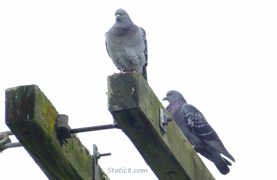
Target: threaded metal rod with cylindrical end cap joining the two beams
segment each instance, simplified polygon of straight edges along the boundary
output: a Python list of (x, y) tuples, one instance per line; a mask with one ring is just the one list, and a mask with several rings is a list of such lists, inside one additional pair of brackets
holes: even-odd
[(63, 143), (68, 143), (68, 138), (70, 138), (71, 134), (74, 134), (74, 133), (83, 133), (88, 131), (98, 131), (98, 130), (114, 129), (114, 128), (120, 129), (119, 125), (115, 120), (113, 124), (109, 124), (109, 125), (90, 126), (90, 127), (84, 127), (84, 128), (71, 129), (70, 126), (68, 126), (67, 115), (60, 114), (57, 116), (56, 131), (59, 138), (63, 141)]

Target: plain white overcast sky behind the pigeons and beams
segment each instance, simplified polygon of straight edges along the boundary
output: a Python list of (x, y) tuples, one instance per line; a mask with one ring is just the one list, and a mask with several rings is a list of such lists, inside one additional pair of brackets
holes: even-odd
[[(272, 179), (275, 144), (276, 1), (0, 1), (0, 131), (5, 89), (37, 84), (72, 128), (112, 123), (107, 76), (119, 72), (105, 47), (115, 10), (128, 12), (148, 42), (148, 83), (161, 100), (183, 94), (216, 130), (236, 163), (226, 176), (202, 158), (216, 179)], [(168, 102), (163, 102), (168, 105)], [(79, 133), (115, 179), (157, 179), (118, 129)], [(16, 139), (12, 139), (16, 142)], [(275, 149), (275, 148), (273, 148)], [(23, 147), (0, 154), (1, 179), (47, 179)]]

